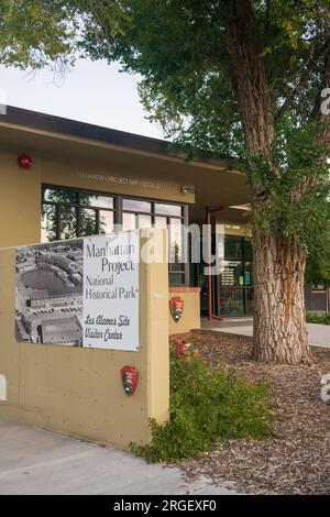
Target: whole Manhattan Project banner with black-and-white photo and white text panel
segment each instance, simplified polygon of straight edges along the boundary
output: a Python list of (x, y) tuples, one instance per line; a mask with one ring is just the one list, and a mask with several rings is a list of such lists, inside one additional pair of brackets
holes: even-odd
[(16, 249), (18, 342), (139, 350), (139, 231)]

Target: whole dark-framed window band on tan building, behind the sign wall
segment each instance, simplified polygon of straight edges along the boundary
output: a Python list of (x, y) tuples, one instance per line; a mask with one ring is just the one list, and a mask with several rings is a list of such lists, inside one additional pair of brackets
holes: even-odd
[(188, 264), (183, 205), (116, 195), (88, 193), (64, 187), (43, 187), (42, 242), (111, 233), (114, 223), (123, 230), (167, 228), (169, 239), (169, 284), (188, 283)]

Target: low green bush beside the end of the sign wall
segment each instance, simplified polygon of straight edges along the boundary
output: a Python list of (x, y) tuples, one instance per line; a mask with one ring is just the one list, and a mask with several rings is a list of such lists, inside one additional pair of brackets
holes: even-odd
[(151, 443), (131, 449), (148, 463), (197, 458), (226, 438), (272, 436), (274, 418), (263, 382), (250, 384), (223, 364), (210, 371), (202, 358), (170, 351), (169, 421), (152, 420)]

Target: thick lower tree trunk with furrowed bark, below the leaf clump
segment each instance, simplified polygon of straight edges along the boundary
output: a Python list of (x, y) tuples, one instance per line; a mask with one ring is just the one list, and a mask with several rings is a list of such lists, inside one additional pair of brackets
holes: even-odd
[(304, 250), (292, 238), (254, 232), (256, 361), (311, 364), (305, 319)]

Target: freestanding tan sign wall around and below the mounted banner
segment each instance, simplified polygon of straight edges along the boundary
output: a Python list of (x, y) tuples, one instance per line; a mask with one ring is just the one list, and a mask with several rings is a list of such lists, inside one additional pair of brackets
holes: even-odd
[[(164, 230), (144, 231), (141, 248)], [(161, 235), (161, 237), (160, 237)], [(18, 343), (14, 338), (15, 251), (0, 251), (0, 416), (107, 446), (146, 443), (148, 419), (164, 422), (169, 406), (168, 272), (165, 260), (140, 264), (139, 352)], [(139, 370), (125, 395), (120, 370)]]

